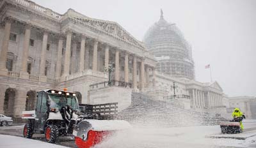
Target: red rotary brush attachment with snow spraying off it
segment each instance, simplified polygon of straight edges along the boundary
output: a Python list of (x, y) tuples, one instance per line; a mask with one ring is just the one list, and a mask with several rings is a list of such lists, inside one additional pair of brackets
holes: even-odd
[(111, 136), (115, 131), (131, 128), (127, 121), (85, 119), (79, 122), (73, 131), (79, 148), (90, 148)]

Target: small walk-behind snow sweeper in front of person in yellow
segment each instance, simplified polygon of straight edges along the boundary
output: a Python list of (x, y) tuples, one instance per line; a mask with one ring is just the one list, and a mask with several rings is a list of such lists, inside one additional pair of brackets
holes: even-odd
[(234, 117), (234, 119), (229, 122), (221, 122), (220, 128), (221, 133), (241, 133), (243, 128), (241, 128), (242, 120), (244, 117)]

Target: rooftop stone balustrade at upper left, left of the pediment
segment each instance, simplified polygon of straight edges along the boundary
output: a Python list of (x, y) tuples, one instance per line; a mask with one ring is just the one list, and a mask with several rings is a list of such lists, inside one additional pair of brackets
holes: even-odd
[(44, 13), (45, 15), (48, 15), (52, 18), (56, 18), (57, 20), (60, 20), (62, 18), (62, 15), (60, 13), (54, 12), (48, 8), (40, 6), (39, 4), (34, 3), (33, 1), (28, 1), (28, 0), (12, 0), (12, 1), (14, 1), (15, 3), (21, 4), (23, 6), (27, 6), (40, 13)]

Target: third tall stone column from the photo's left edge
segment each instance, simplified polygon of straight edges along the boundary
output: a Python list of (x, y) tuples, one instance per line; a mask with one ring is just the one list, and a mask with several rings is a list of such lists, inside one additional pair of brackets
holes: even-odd
[(41, 58), (40, 58), (40, 76), (39, 80), (41, 82), (46, 82), (47, 76), (45, 76), (45, 54), (47, 48), (47, 40), (48, 40), (48, 32), (44, 31), (43, 41), (42, 41), (42, 50), (41, 50)]

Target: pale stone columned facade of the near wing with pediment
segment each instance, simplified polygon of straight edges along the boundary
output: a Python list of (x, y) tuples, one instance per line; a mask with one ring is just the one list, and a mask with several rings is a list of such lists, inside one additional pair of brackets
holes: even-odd
[(116, 82), (141, 90), (156, 65), (116, 22), (72, 9), (61, 15), (27, 0), (0, 0), (0, 57), (0, 113), (13, 117), (41, 89), (67, 87), (81, 94), (80, 103), (90, 103), (90, 85), (108, 80), (109, 63)]

